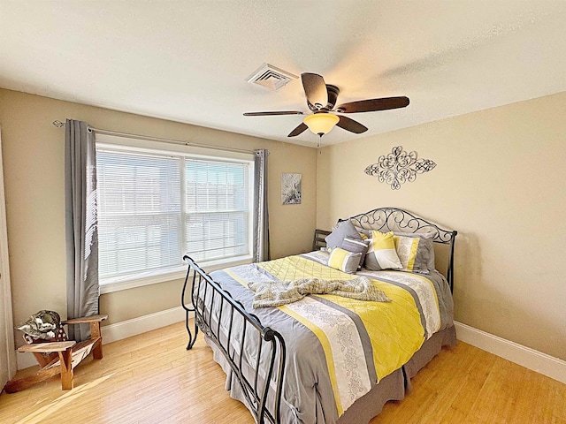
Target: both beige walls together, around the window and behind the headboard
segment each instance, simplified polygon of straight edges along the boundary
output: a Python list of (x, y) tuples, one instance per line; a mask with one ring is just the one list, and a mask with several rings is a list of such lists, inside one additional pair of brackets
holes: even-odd
[[(330, 228), (338, 217), (396, 206), (453, 227), (459, 231), (456, 320), (566, 360), (564, 93), (317, 155), (311, 148), (0, 89), (16, 323), (42, 308), (66, 310), (64, 132), (51, 125), (66, 117), (126, 133), (268, 148), (274, 257), (310, 248), (315, 215), (317, 227)], [(393, 191), (363, 170), (394, 146), (416, 150), (437, 166)], [(302, 173), (301, 205), (280, 205), (282, 172)], [(104, 294), (101, 310), (110, 322), (121, 322), (177, 307), (179, 298), (180, 281), (172, 281)]]

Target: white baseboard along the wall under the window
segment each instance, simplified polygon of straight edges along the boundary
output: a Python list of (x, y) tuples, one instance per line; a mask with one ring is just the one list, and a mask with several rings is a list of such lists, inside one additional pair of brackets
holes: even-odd
[[(191, 316), (191, 314), (189, 314)], [(116, 322), (114, 324), (105, 325), (102, 328), (103, 344), (115, 342), (126, 337), (137, 336), (138, 334), (159, 329), (175, 322), (185, 321), (185, 309), (182, 307), (173, 307), (155, 314), (143, 315), (132, 320)], [(37, 365), (34, 355), (30, 352), (16, 352), (18, 360), (18, 369), (34, 367)]]

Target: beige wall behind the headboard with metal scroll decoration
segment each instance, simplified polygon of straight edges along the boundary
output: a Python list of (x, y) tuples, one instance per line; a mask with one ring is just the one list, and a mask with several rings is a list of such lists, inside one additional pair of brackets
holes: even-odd
[[(565, 117), (562, 93), (324, 148), (317, 227), (394, 206), (454, 228), (455, 319), (566, 360)], [(437, 166), (391, 190), (363, 170), (394, 146)]]

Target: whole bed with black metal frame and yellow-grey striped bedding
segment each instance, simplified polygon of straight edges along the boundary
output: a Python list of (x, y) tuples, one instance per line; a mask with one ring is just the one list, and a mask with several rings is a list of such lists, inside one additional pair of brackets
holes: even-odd
[(330, 247), (307, 254), (210, 275), (185, 256), (187, 350), (201, 330), (256, 422), (367, 423), (455, 345), (455, 236), (376, 208), (340, 219)]

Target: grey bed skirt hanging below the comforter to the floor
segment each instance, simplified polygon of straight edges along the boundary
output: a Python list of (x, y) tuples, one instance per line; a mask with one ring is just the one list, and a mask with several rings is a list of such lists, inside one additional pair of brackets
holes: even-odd
[[(243, 394), (241, 393), (240, 385), (238, 382), (233, 380), (231, 368), (226, 362), (224, 356), (218, 351), (217, 346), (210, 342), (208, 337), (205, 337), (205, 339), (207, 345), (209, 345), (212, 349), (214, 360), (218, 362), (220, 367), (222, 367), (226, 373), (226, 390), (230, 391), (230, 396), (232, 398), (239, 400), (246, 405)], [(389, 400), (402, 400), (405, 398), (405, 393), (411, 390), (410, 379), (417, 375), (417, 372), (440, 352), (442, 346), (455, 344), (456, 332), (454, 326), (443, 329), (432, 335), (431, 338), (424, 342), (409, 362), (407, 362), (403, 367), (395, 370), (390, 375), (382, 378), (379, 384), (374, 386), (373, 389), (366, 393), (362, 398), (357, 399), (356, 402), (342, 414), (340, 419), (337, 421), (337, 424), (366, 424), (381, 412), (386, 402)], [(285, 401), (282, 400), (281, 403), (284, 404)], [(285, 409), (285, 405), (281, 405), (281, 408), (281, 416), (283, 418), (286, 416), (283, 411)], [(317, 404), (317, 417), (321, 417), (321, 423), (325, 422), (324, 413), (320, 409), (319, 404)], [(287, 418), (289, 418), (288, 415)]]

